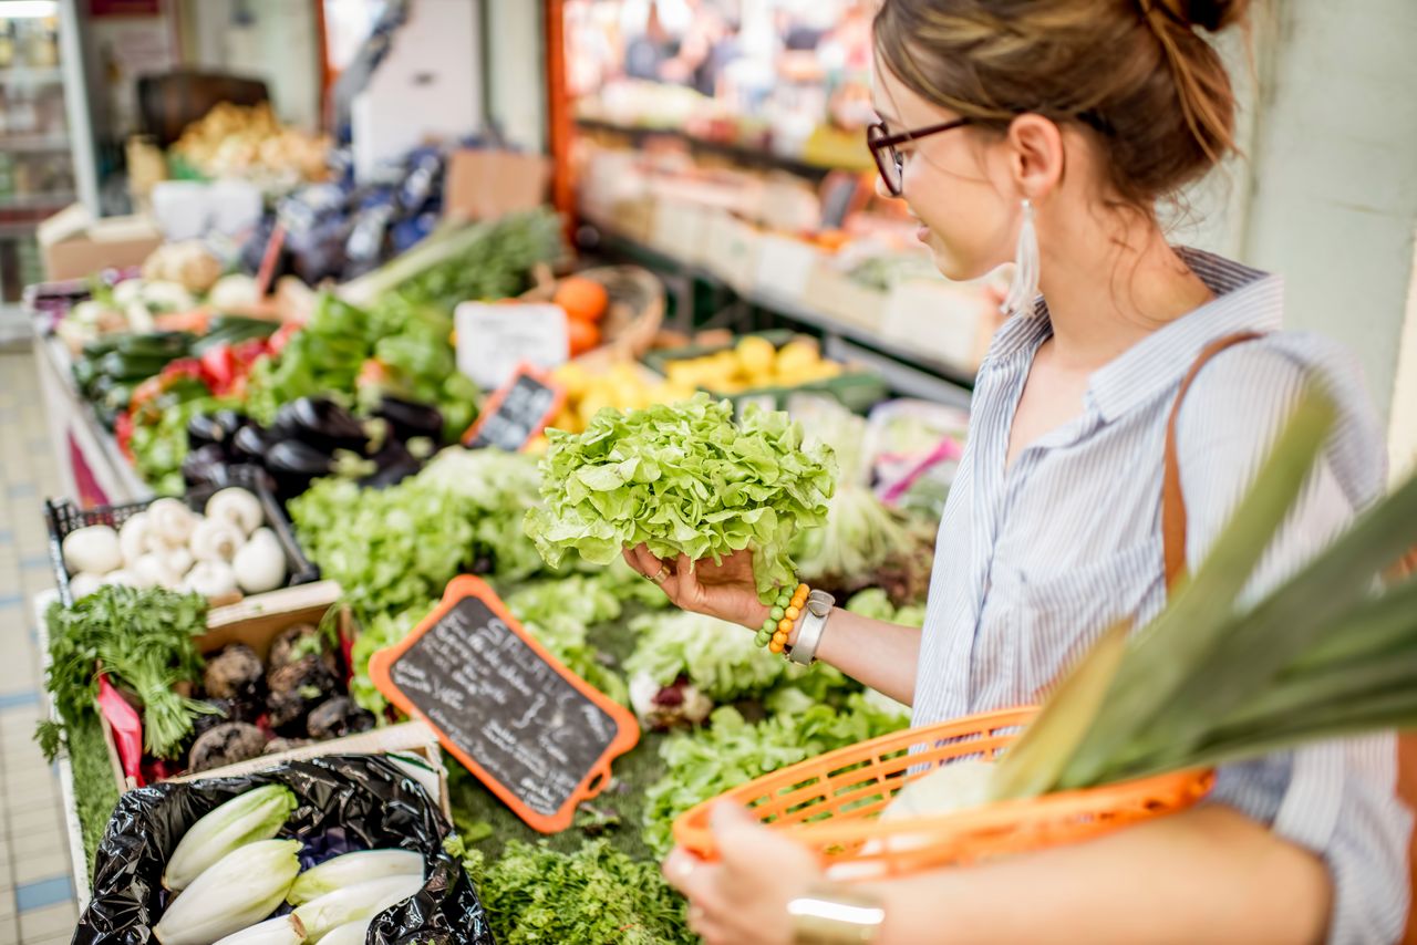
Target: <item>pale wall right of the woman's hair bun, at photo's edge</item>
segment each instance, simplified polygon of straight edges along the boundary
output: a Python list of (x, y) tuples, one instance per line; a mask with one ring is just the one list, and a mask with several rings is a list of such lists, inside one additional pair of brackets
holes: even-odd
[(1417, 234), (1417, 3), (1275, 6), (1241, 255), (1284, 273), (1288, 326), (1353, 349), (1394, 418)]

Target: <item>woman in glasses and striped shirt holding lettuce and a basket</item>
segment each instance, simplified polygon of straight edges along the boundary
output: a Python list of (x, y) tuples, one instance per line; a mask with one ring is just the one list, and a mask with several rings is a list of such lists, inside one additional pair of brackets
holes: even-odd
[[(1162, 608), (1168, 418), (1212, 341), (1261, 336), (1212, 353), (1179, 401), (1178, 564), (1204, 557), (1308, 373), (1336, 392), (1342, 429), (1251, 592), (1382, 492), (1382, 436), (1348, 358), (1278, 332), (1278, 278), (1172, 248), (1153, 211), (1233, 150), (1230, 82), (1200, 33), (1244, 9), (886, 0), (877, 14), (883, 188), (947, 276), (1019, 264), (1020, 312), (979, 370), (924, 632), (837, 609), (816, 649), (913, 703), (917, 725), (1034, 700), (1112, 621)], [(626, 557), (683, 608), (765, 618), (747, 554)], [(1331, 742), (1223, 768), (1204, 805), (1097, 842), (826, 890), (803, 849), (723, 809), (721, 863), (676, 851), (665, 870), (710, 945), (1380, 942), (1407, 908), (1393, 782), (1391, 738)], [(833, 904), (867, 908), (836, 910), (826, 936), (789, 915)]]

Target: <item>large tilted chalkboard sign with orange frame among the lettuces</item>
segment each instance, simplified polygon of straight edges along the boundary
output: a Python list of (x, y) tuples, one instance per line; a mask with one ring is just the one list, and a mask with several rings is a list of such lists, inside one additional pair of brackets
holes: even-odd
[(543, 833), (571, 826), (611, 759), (639, 741), (635, 717), (531, 639), (483, 581), (455, 578), (442, 604), (370, 659), (391, 703)]

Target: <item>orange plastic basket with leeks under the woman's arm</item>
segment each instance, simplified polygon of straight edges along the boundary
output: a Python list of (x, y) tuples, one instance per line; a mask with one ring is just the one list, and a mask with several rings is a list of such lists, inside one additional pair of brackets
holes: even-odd
[(1182, 771), (1087, 791), (1003, 800), (881, 823), (911, 779), (959, 758), (993, 759), (1037, 708), (1009, 708), (900, 731), (811, 758), (734, 788), (674, 822), (679, 846), (714, 859), (708, 810), (730, 800), (818, 851), (828, 874), (870, 880), (1076, 843), (1176, 813), (1210, 791), (1210, 771)]

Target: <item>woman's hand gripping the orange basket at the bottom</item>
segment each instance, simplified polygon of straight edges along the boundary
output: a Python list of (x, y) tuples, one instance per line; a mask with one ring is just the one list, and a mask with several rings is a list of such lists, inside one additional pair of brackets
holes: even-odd
[(717, 863), (679, 849), (665, 860), (689, 898), (689, 928), (706, 945), (792, 945), (788, 902), (820, 878), (816, 857), (731, 803), (714, 808), (713, 832)]

